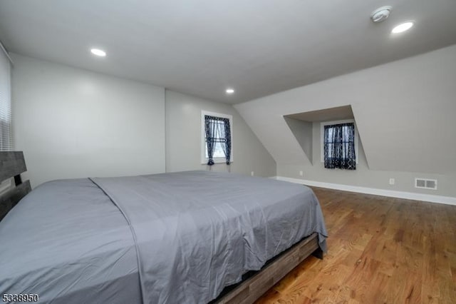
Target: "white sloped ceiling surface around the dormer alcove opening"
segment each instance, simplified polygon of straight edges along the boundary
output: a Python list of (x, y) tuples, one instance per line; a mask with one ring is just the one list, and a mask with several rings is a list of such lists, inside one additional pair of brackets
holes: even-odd
[(284, 116), (351, 105), (371, 170), (456, 171), (456, 46), (234, 105), (277, 164), (309, 160)]

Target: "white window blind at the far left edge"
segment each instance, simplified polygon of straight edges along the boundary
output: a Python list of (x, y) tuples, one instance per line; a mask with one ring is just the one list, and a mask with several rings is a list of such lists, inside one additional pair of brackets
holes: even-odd
[(0, 50), (0, 151), (13, 150), (11, 131), (11, 63)]

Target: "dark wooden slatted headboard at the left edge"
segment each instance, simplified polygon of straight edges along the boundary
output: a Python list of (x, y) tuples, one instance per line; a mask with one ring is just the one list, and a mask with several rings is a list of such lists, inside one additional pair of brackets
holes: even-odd
[(0, 152), (0, 182), (14, 177), (14, 187), (0, 194), (0, 221), (31, 191), (30, 182), (22, 182), (21, 173), (27, 171), (22, 151)]

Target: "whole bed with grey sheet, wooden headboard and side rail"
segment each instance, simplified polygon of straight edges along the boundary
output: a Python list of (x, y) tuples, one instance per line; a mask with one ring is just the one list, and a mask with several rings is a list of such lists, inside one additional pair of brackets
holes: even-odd
[(0, 177), (16, 183), (1, 205), (11, 209), (0, 222), (1, 294), (37, 294), (41, 303), (252, 303), (326, 251), (321, 208), (304, 186), (185, 171), (51, 181), (21, 198), (30, 188), (20, 178), (22, 153), (1, 152), (0, 162)]

